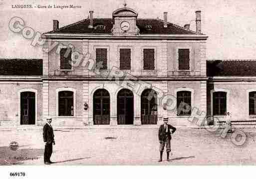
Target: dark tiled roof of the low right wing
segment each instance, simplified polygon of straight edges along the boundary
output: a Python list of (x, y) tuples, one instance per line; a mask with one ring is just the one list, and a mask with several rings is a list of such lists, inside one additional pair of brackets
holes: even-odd
[(256, 60), (207, 61), (207, 76), (256, 76)]

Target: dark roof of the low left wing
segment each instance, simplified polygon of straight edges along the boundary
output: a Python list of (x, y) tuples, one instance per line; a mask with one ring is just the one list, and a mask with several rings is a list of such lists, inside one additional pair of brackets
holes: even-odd
[(42, 59), (0, 59), (0, 75), (42, 75)]

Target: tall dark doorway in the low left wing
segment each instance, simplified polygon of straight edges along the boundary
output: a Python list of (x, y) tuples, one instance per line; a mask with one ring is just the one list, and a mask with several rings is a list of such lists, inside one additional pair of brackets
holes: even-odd
[(20, 93), (20, 124), (35, 124), (35, 93), (25, 91)]

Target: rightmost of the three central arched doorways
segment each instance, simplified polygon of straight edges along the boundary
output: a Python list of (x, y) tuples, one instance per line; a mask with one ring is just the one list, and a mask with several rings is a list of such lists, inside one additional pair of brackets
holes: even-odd
[(141, 124), (157, 124), (157, 93), (153, 89), (141, 94)]

